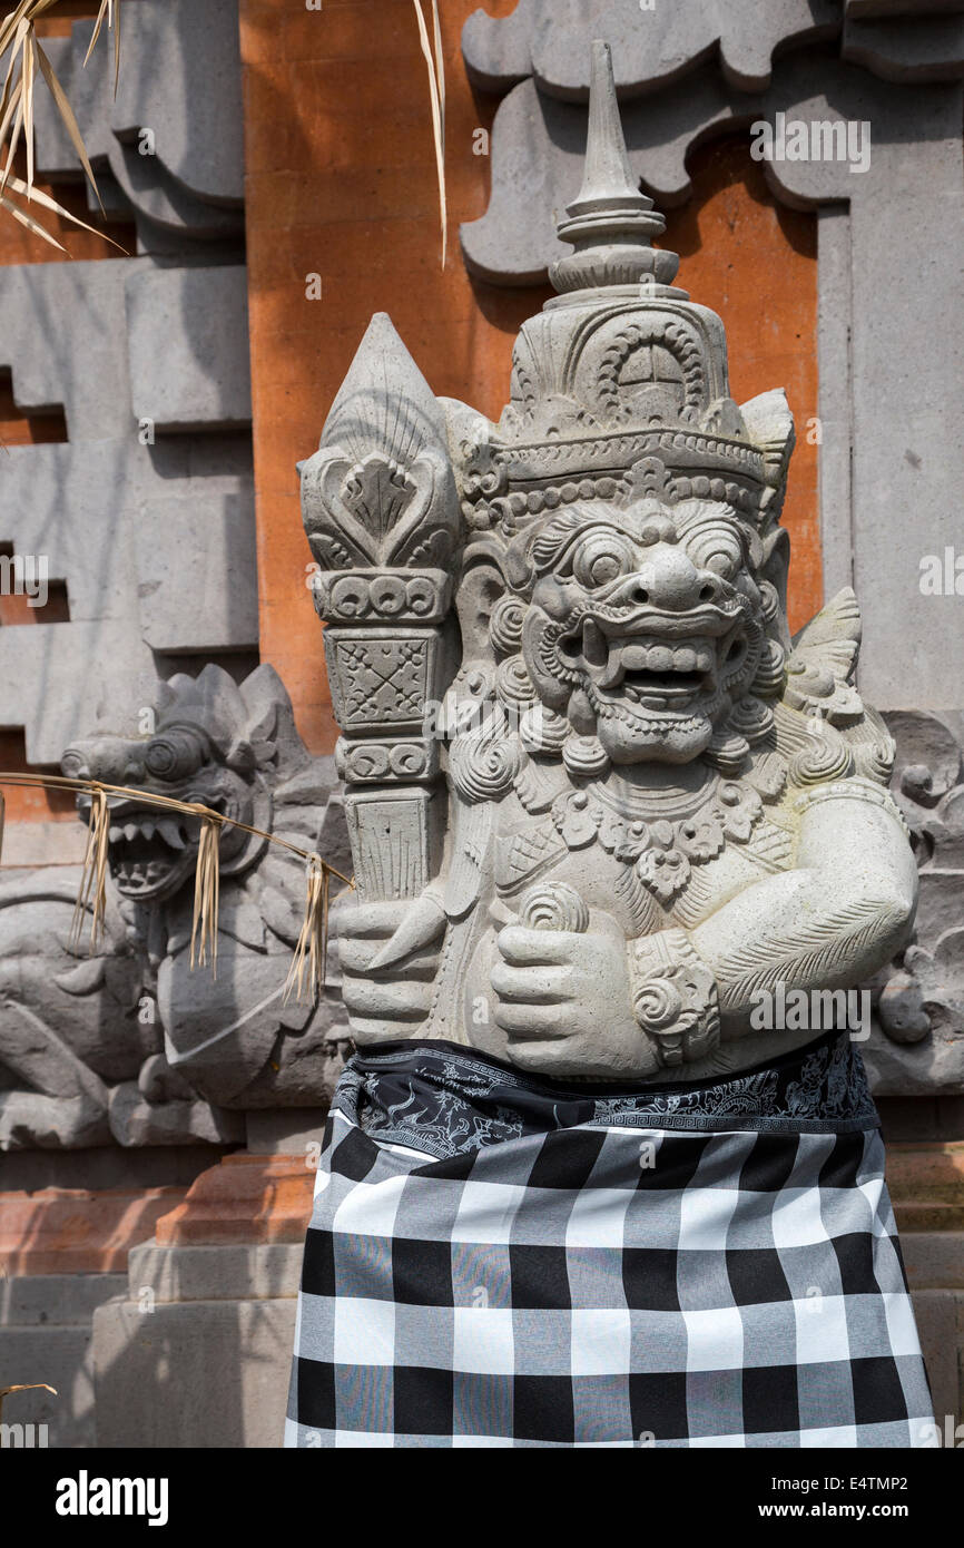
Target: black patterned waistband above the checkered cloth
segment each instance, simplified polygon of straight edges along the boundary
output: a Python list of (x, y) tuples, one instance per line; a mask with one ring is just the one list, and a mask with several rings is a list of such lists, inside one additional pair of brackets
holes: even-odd
[(576, 1127), (842, 1135), (880, 1122), (839, 1031), (723, 1079), (627, 1088), (573, 1088), (458, 1043), (382, 1043), (348, 1062), (333, 1108), (371, 1139), (438, 1158)]

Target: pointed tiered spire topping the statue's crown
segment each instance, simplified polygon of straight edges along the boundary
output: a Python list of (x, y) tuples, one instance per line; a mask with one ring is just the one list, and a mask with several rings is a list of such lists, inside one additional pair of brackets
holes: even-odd
[(602, 285), (672, 285), (679, 259), (651, 238), (665, 231), (653, 200), (641, 194), (627, 155), (610, 45), (596, 39), (590, 76), (590, 128), (582, 187), (566, 204), (559, 235), (574, 252), (549, 269), (557, 291)]

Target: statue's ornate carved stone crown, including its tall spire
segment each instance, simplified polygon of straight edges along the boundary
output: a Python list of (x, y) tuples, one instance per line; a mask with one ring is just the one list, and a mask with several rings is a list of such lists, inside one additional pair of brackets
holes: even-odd
[(754, 522), (778, 514), (792, 446), (783, 393), (740, 409), (720, 317), (672, 282), (675, 252), (630, 169), (610, 48), (593, 43), (582, 189), (549, 269), (559, 293), (523, 324), (498, 426), (455, 416), (470, 526), (517, 529), (573, 500), (726, 500)]

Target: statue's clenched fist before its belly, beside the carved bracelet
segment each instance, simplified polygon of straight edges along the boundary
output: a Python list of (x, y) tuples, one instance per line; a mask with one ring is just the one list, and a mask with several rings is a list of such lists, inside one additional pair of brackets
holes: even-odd
[(495, 1022), (521, 1070), (551, 1076), (638, 1079), (659, 1062), (633, 1014), (627, 941), (610, 915), (585, 933), (508, 924), (492, 968)]

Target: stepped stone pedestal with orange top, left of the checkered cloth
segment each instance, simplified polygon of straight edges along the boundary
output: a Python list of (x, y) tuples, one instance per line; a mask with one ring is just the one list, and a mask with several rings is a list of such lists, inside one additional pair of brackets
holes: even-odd
[(130, 1254), (94, 1316), (97, 1444), (280, 1446), (314, 1172), (224, 1158)]

